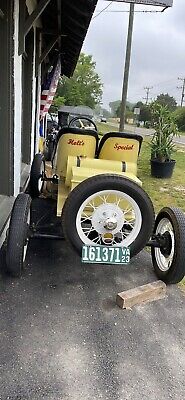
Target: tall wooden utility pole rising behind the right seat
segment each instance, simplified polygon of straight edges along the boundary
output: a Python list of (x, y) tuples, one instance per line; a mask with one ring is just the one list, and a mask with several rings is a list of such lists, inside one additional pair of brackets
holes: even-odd
[(134, 23), (134, 3), (130, 3), (128, 35), (127, 35), (127, 49), (126, 49), (126, 57), (125, 57), (123, 90), (122, 90), (122, 100), (121, 100), (121, 115), (120, 115), (120, 126), (119, 126), (120, 132), (123, 132), (124, 125), (125, 125), (125, 113), (126, 113), (128, 78), (129, 78), (131, 47), (132, 47), (133, 23)]

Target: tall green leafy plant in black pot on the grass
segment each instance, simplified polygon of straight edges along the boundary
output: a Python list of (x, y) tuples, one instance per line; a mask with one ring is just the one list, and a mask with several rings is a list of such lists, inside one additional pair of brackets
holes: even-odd
[(154, 102), (151, 105), (154, 128), (151, 140), (151, 175), (156, 178), (171, 178), (176, 161), (172, 154), (175, 150), (174, 136), (179, 134), (171, 112), (166, 106)]

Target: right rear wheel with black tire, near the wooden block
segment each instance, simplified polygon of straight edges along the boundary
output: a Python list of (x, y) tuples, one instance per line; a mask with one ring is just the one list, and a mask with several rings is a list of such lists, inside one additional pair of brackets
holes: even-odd
[[(164, 218), (171, 223), (173, 228), (174, 250), (172, 247), (172, 236), (170, 235), (169, 249), (167, 252), (165, 252), (163, 249), (155, 249), (154, 247), (151, 248), (152, 262), (155, 273), (159, 279), (166, 283), (178, 283), (185, 276), (185, 216), (184, 213), (178, 208), (164, 207), (157, 215), (154, 226), (154, 234), (160, 233), (161, 228), (159, 223)], [(163, 232), (161, 231), (161, 233)], [(172, 250), (173, 253), (171, 253)], [(172, 256), (170, 261), (169, 257), (171, 254)], [(163, 266), (165, 267), (164, 261), (168, 263), (168, 260), (168, 269), (163, 270)]]

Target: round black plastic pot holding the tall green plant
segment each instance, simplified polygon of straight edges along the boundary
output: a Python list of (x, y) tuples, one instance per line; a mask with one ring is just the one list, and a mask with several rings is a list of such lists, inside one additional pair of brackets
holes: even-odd
[(175, 160), (161, 162), (157, 159), (151, 160), (151, 175), (155, 178), (171, 178), (175, 167)]

